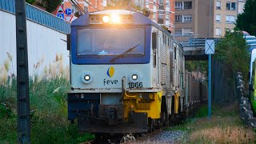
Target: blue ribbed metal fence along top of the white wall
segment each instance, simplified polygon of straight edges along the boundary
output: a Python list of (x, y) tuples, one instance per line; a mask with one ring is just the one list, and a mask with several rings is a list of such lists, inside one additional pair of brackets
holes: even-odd
[[(15, 0), (0, 0), (0, 10), (15, 14)], [(70, 23), (26, 3), (26, 18), (43, 26), (70, 34)]]

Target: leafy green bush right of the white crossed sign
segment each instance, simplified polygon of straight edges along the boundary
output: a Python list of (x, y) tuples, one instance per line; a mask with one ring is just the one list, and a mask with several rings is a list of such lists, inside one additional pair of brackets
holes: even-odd
[(216, 46), (214, 58), (226, 63), (232, 70), (241, 71), (243, 75), (247, 75), (250, 60), (247, 48), (241, 32), (226, 30), (225, 37)]

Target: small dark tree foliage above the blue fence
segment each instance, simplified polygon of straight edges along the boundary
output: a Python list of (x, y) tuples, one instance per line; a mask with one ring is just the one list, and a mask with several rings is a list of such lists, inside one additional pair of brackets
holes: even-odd
[(49, 13), (52, 13), (62, 4), (62, 2), (63, 0), (42, 0), (42, 2), (38, 2), (38, 6), (41, 6)]

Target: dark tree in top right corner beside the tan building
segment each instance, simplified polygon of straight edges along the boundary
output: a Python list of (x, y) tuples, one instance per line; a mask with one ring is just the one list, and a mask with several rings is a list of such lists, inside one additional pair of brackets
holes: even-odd
[(236, 28), (256, 35), (256, 0), (246, 1), (244, 13), (238, 14)]

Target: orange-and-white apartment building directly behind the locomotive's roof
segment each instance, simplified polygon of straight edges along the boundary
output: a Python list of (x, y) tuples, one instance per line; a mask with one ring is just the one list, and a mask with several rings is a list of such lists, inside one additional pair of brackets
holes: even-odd
[[(97, 10), (106, 10), (106, 6), (113, 5), (112, 0), (75, 0), (79, 6), (86, 12), (92, 12)], [(169, 30), (173, 30), (174, 27), (174, 0), (130, 0), (131, 5), (139, 6), (141, 8), (148, 8), (150, 10), (150, 19), (157, 22), (161, 26), (166, 26)], [(90, 5), (89, 5), (89, 4)], [(64, 10), (70, 8), (72, 10), (71, 16), (74, 17), (74, 13), (78, 11), (69, 0), (64, 0), (62, 4)], [(132, 6), (123, 6), (128, 10), (132, 10)], [(74, 17), (72, 20), (74, 20)]]

